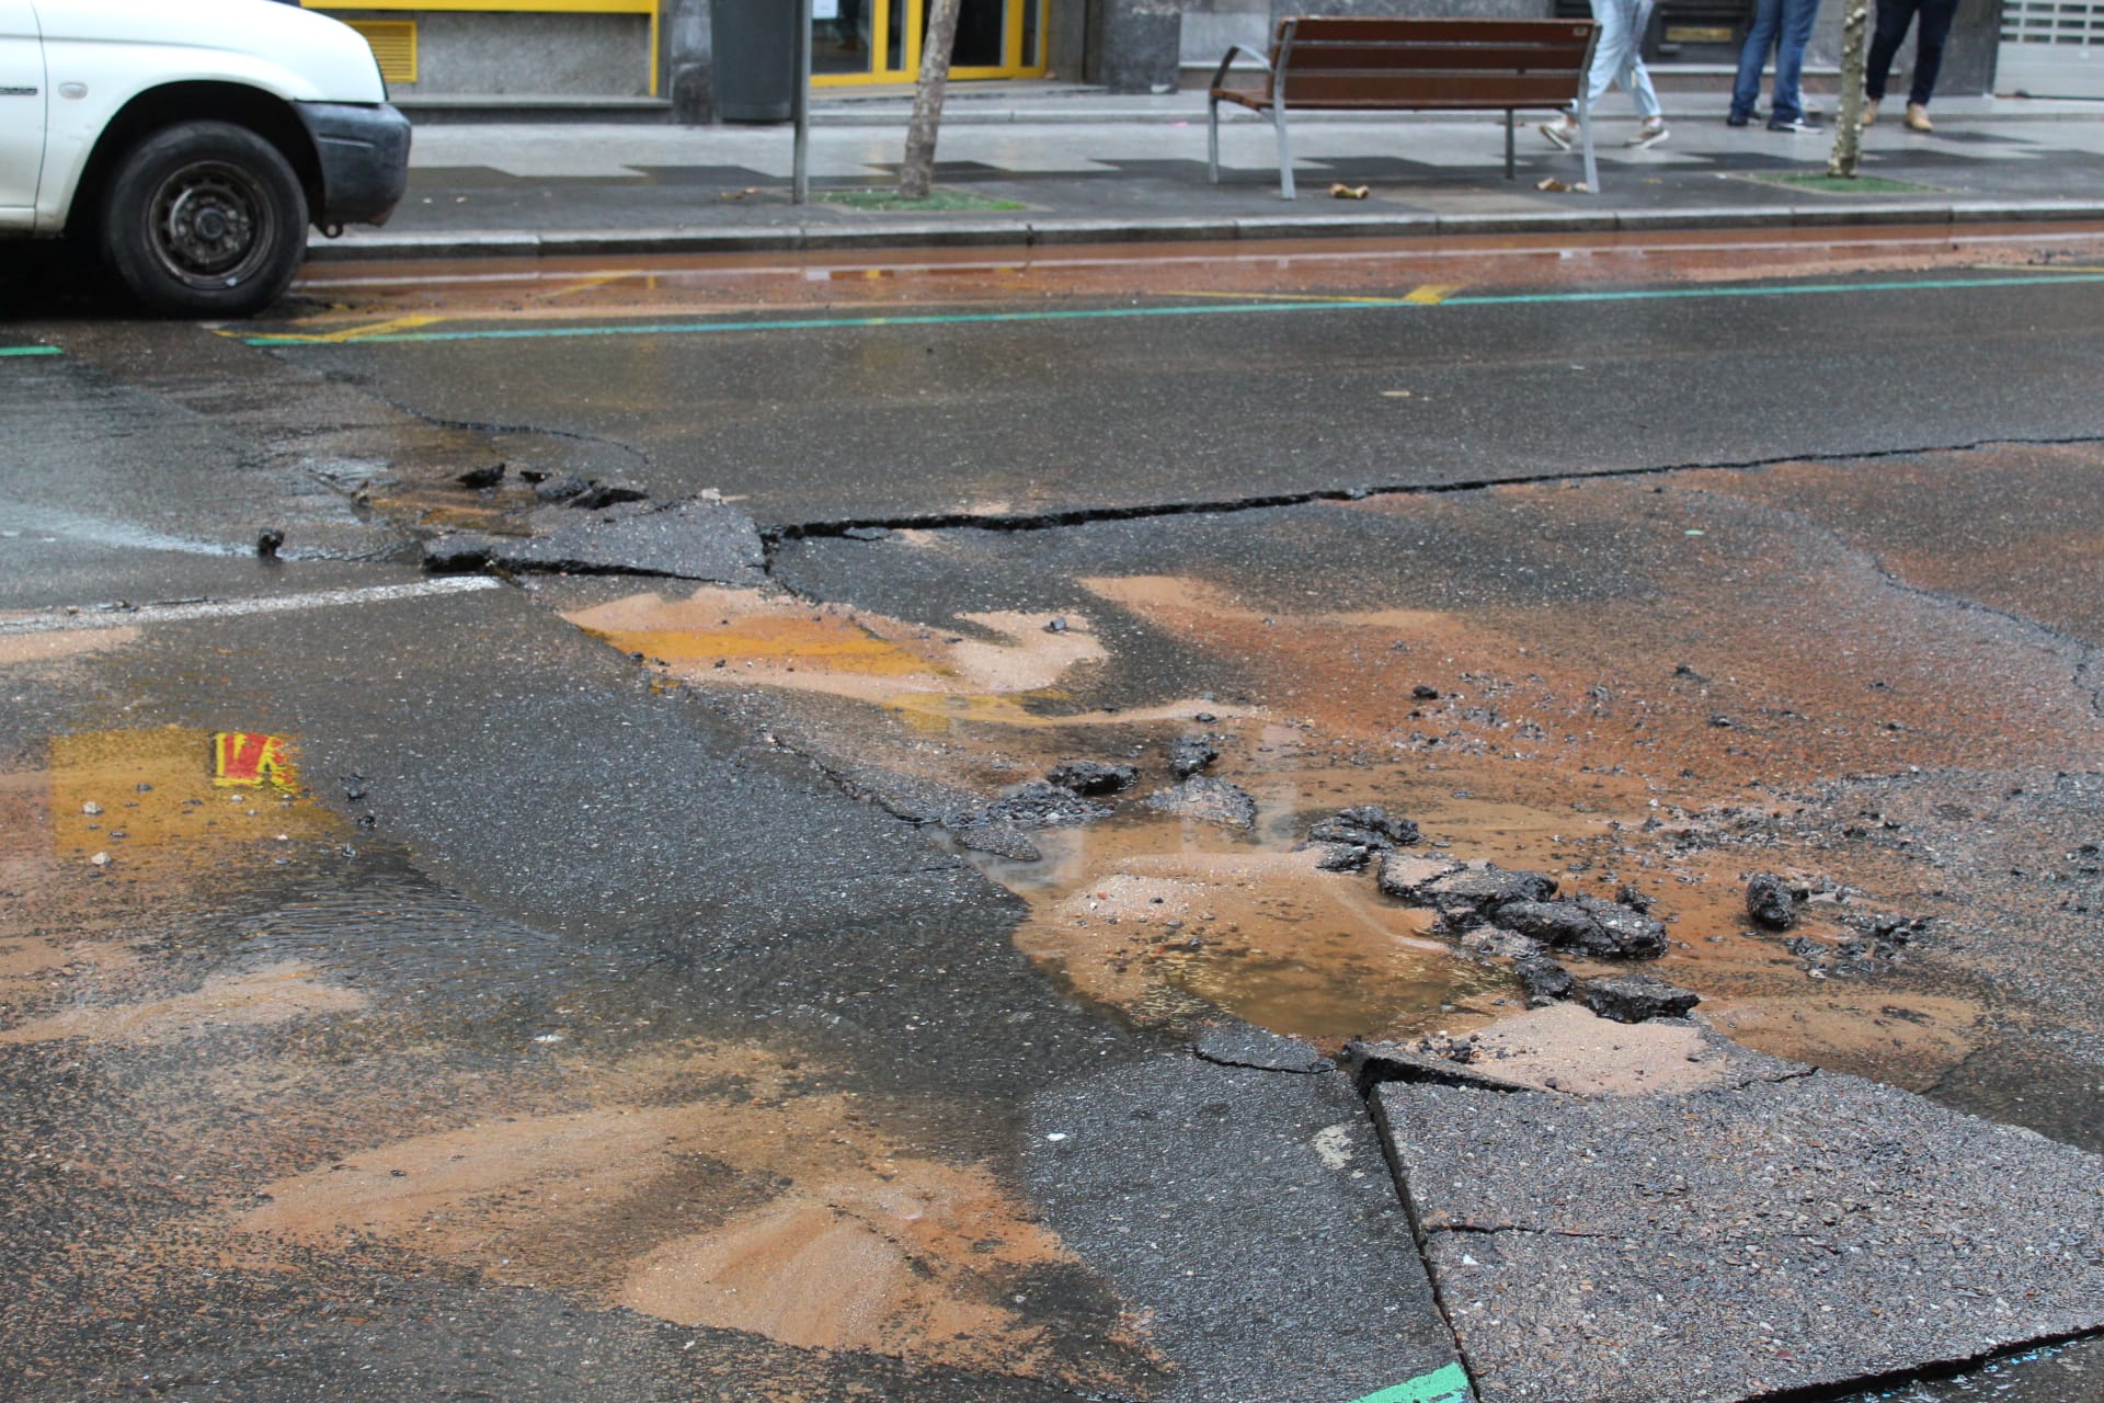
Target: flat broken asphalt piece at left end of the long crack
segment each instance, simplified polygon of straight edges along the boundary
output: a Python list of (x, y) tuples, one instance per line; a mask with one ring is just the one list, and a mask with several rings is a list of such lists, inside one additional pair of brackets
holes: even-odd
[(494, 566), (760, 585), (766, 551), (749, 515), (707, 496), (690, 496), (654, 511), (585, 517), (541, 536), (438, 536), (425, 543), (423, 566), (433, 574)]

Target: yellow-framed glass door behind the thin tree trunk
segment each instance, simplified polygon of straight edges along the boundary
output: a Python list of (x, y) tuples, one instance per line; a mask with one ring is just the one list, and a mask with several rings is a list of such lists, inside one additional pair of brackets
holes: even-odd
[[(932, 0), (812, 0), (814, 86), (913, 82)], [(951, 78), (1039, 78), (1046, 0), (962, 0)]]

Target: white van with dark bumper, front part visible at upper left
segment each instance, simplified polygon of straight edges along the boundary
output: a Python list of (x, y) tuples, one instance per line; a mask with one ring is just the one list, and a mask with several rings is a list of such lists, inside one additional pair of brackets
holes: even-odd
[(326, 15), (0, 0), (0, 238), (93, 240), (154, 311), (265, 307), (309, 223), (383, 223), (406, 185), (408, 118)]

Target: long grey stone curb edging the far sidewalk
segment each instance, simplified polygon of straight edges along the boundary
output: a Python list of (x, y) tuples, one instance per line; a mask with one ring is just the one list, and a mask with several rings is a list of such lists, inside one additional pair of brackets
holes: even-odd
[(551, 229), (463, 233), (349, 233), (307, 248), (307, 263), (414, 259), (566, 259), (703, 252), (863, 252), (877, 248), (1052, 248), (1069, 244), (1191, 244), (1300, 238), (1439, 238), (1471, 233), (1658, 233), (1675, 229), (1860, 229), (2104, 221), (2104, 200), (1885, 202), (1847, 208), (1664, 208), (1523, 215), (1275, 215), (1222, 219), (1044, 219), (770, 229)]

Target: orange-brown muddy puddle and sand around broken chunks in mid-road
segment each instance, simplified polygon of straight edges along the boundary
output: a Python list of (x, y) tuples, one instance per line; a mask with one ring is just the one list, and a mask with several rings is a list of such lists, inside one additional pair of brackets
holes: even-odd
[[(1664, 730), (1645, 734), (1645, 719), (1664, 709), (1612, 713), (1580, 669), (1519, 644), (1521, 633), (1408, 608), (1279, 627), (1277, 610), (1174, 576), (1084, 587), (1098, 608), (1142, 614), (1281, 679), (1283, 705), (1092, 705), (1094, 679), (1117, 658), (1094, 610), (1079, 608), (917, 623), (701, 589), (585, 604), (568, 618), (667, 682), (772, 696), (760, 713), (783, 743), (852, 770), (856, 785), (873, 768), (934, 785), (943, 804), (917, 814), (930, 835), (1029, 904), (1018, 949), (1147, 1026), (1185, 1031), (1231, 1014), (1336, 1048), (1458, 1035), (1525, 1008), (1509, 959), (1384, 896), (1372, 869), (1317, 865), (1311, 825), (1382, 806), (1420, 827), (1414, 854), (1542, 871), (1561, 896), (1635, 894), (1668, 932), (1666, 955), (1641, 968), (1698, 989), (1704, 1014), (1748, 1045), (1915, 1087), (1980, 1045), (1976, 997), (1921, 984), (1913, 951), (1866, 936), (1904, 913), (1873, 888), (1833, 881), (1805, 862), (1814, 854), (1776, 852), (1753, 810), (1727, 801), (1774, 806), (1772, 791), (1641, 778), (1656, 772), (1645, 749)], [(1504, 654), (1496, 669), (1490, 652)], [(1515, 658), (1525, 671), (1511, 671)], [(844, 719), (842, 700), (858, 711)], [(1677, 730), (1690, 749), (1673, 757), (1723, 730)], [(1172, 745), (1195, 734), (1218, 751), (1206, 776), (1254, 804), (1248, 827), (1151, 808), (1176, 789)], [(1704, 770), (1715, 774), (1717, 751), (1740, 751), (1742, 738), (1706, 743)], [(972, 850), (959, 806), (999, 804), (1071, 759), (1134, 766), (1130, 789), (1096, 799), (1111, 818), (1029, 829), (1027, 860)], [(1805, 894), (1791, 932), (1748, 921), (1757, 871)], [(1628, 968), (1565, 963), (1580, 978)]]

